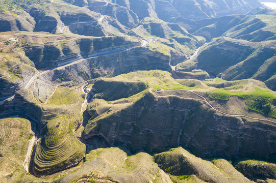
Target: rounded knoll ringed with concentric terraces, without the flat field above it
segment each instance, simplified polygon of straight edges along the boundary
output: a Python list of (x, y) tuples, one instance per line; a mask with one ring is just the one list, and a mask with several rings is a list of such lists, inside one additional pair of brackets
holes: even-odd
[[(74, 114), (76, 115), (76, 114)], [(73, 115), (60, 115), (48, 121), (45, 135), (37, 143), (34, 170), (47, 174), (78, 164), (84, 157), (85, 145), (74, 136)]]

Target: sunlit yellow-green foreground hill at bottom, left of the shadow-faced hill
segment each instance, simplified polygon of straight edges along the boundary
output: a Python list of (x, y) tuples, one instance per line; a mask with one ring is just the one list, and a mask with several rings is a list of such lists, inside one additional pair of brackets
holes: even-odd
[(146, 153), (127, 156), (119, 148), (95, 149), (87, 154), (82, 167), (60, 182), (171, 182)]

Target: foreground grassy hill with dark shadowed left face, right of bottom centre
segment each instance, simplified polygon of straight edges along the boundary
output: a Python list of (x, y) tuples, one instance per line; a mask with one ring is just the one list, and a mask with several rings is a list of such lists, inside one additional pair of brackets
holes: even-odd
[(178, 176), (178, 179), (190, 179), (191, 175), (196, 175), (199, 179), (207, 182), (251, 182), (228, 161), (223, 159), (212, 162), (202, 160), (182, 147), (157, 154), (154, 156), (154, 161), (165, 172)]

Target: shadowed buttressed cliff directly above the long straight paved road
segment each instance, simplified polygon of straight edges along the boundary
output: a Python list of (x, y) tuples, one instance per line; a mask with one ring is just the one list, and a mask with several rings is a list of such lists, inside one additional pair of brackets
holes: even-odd
[[(35, 64), (36, 68), (52, 68), (66, 60), (72, 60), (80, 56), (88, 56), (93, 53), (111, 51), (121, 47), (136, 46), (138, 43), (128, 41), (123, 37), (107, 38), (80, 38), (50, 36), (45, 42), (42, 36), (36, 44), (28, 44), (25, 48), (26, 56)], [(32, 39), (32, 38), (31, 38)], [(31, 42), (31, 41), (30, 41)], [(44, 42), (41, 44), (41, 42)]]

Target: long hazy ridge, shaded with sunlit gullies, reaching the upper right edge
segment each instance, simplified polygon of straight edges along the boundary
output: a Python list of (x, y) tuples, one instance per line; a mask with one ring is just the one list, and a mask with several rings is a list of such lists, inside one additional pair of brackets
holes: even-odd
[[(275, 12), (274, 12), (275, 13)], [(247, 14), (248, 15), (248, 14)], [(253, 15), (230, 15), (204, 20), (189, 20), (182, 17), (171, 18), (170, 21), (186, 28), (190, 34), (211, 39), (228, 36), (250, 42), (274, 40), (274, 23), (269, 21), (274, 15), (270, 12), (258, 11)]]

